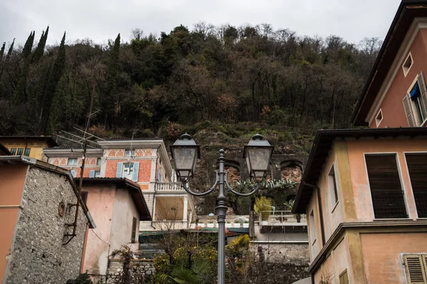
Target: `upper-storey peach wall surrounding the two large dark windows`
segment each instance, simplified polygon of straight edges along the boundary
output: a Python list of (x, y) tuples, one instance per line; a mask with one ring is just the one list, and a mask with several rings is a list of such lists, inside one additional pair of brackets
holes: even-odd
[(403, 181), (408, 215), (411, 219), (416, 219), (416, 207), (404, 152), (427, 151), (427, 139), (355, 140), (347, 141), (347, 149), (357, 220), (372, 221), (374, 219), (364, 153), (398, 153), (398, 168)]

